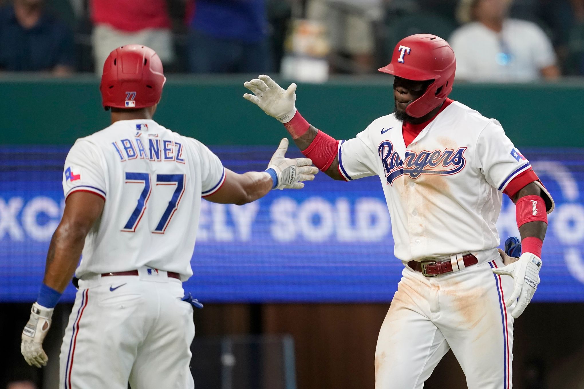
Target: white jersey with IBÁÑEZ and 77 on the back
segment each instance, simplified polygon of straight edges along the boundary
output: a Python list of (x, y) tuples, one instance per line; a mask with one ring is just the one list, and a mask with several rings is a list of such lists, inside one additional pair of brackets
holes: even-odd
[(65, 160), (65, 199), (87, 191), (105, 199), (85, 239), (75, 275), (141, 266), (193, 274), (190, 258), (201, 196), (225, 180), (206, 146), (153, 120), (122, 120), (78, 139)]

